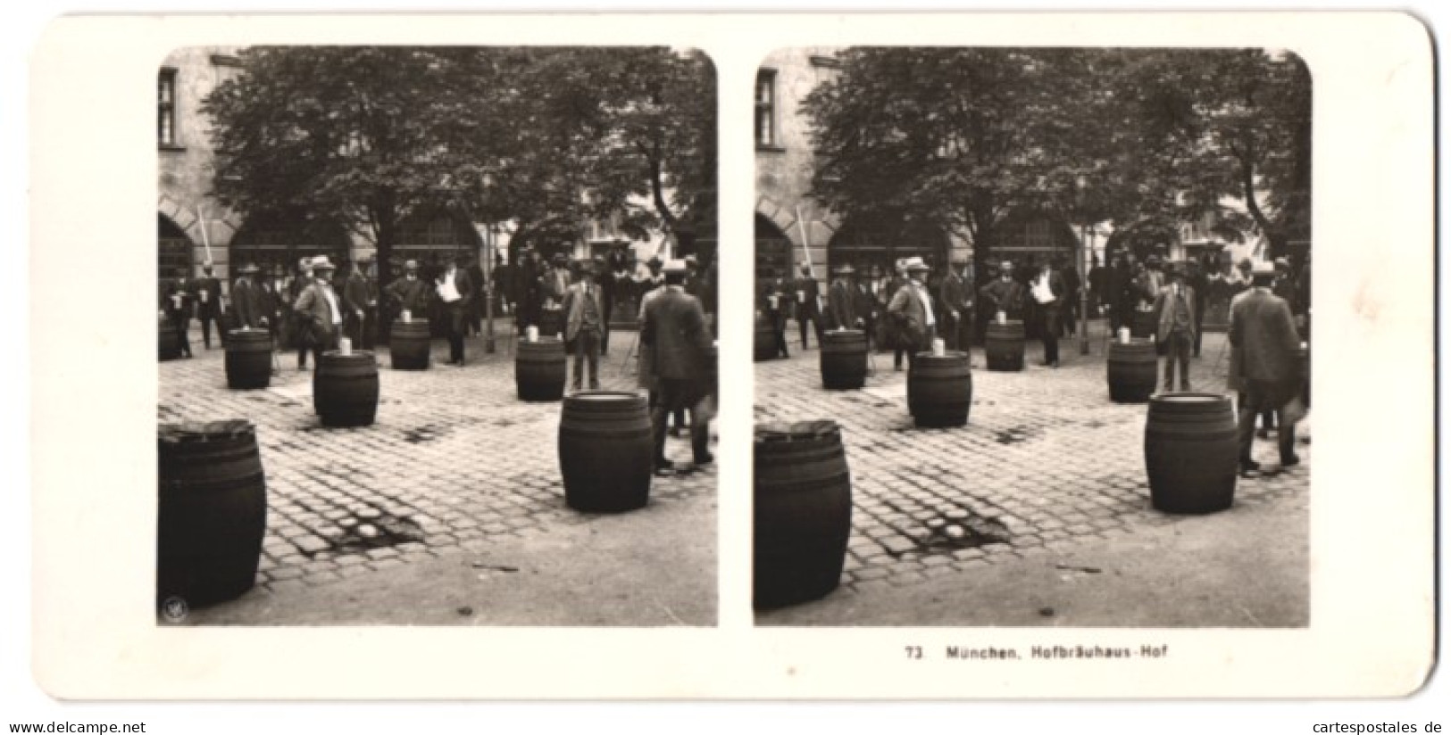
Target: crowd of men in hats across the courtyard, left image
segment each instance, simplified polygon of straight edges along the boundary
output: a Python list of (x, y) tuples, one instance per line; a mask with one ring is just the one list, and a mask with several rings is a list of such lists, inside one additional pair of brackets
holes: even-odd
[(638, 328), (637, 344), (631, 346), (656, 429), (656, 473), (675, 471), (665, 457), (665, 438), (679, 435), (686, 426), (694, 462), (704, 465), (714, 460), (708, 449), (717, 393), (714, 265), (702, 267), (694, 255), (669, 262), (656, 257), (644, 264), (646, 273), (636, 274), (624, 248), (591, 259), (556, 255), (548, 265), (538, 251), (524, 248), (517, 267), (495, 268), (492, 288), (467, 257), (434, 267), (427, 275), (422, 270), (409, 259), (402, 274), (379, 288), (366, 259), (340, 274), (325, 255), (303, 258), (290, 277), (277, 270), (264, 274), (258, 265), (245, 264), (228, 296), (210, 264), (194, 278), (181, 268), (160, 290), (160, 316), (176, 331), (183, 357), (193, 355), (187, 332), (197, 319), (207, 349), (213, 326), (219, 341), (228, 329), (264, 329), (279, 348), (296, 349), (302, 371), (309, 355), (316, 364), (324, 352), (338, 349), (344, 338), (360, 349), (371, 349), (382, 336), (379, 325), (390, 325), (406, 313), (409, 319), (428, 317), (445, 325), (448, 364), (463, 365), (464, 338), (482, 333), (479, 304), (498, 299), (498, 312), (512, 316), (519, 336), (553, 325), (550, 329), (557, 333), (544, 336), (562, 338), (573, 354), (570, 386), (576, 391), (599, 389), (599, 358), (608, 351), (611, 322), (628, 325)]

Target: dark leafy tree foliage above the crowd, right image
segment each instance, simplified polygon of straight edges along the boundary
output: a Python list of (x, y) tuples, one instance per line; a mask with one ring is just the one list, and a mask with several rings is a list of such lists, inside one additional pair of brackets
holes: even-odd
[[(1259, 49), (852, 48), (804, 103), (813, 194), (907, 213), (987, 257), (1010, 212), (1233, 219), (1307, 236), (1310, 84)], [(1246, 222), (1248, 225), (1248, 222)]]

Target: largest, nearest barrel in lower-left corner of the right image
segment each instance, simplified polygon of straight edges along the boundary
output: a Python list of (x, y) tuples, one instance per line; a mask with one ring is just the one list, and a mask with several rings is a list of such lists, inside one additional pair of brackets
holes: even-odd
[(755, 606), (815, 600), (842, 581), (852, 473), (836, 422), (770, 423), (755, 436)]

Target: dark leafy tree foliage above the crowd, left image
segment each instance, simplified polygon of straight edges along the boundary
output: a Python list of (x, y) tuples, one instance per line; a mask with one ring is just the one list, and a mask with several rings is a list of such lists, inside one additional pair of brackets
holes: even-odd
[[(714, 71), (666, 48), (258, 46), (205, 101), (215, 196), (373, 239), (448, 203), (515, 241), (714, 219)], [(649, 206), (641, 206), (649, 202)], [(705, 212), (710, 210), (710, 212)]]

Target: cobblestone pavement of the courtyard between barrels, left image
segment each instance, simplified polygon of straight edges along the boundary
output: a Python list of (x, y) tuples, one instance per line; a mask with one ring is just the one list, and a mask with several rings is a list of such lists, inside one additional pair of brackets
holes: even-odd
[[(517, 399), (511, 345), (499, 326), (496, 352), (469, 338), (464, 367), (444, 365), (432, 344), (427, 371), (389, 368), (377, 351), (380, 400), (371, 426), (322, 428), (312, 410), (312, 373), (296, 352), (279, 352), (280, 374), (263, 390), (229, 390), (223, 351), (160, 362), (160, 422), (250, 419), (267, 474), (267, 535), (257, 581), (287, 593), (460, 551), (493, 536), (528, 538), (598, 518), (564, 506), (557, 431), (562, 403)], [(634, 390), (622, 371), (633, 332), (601, 361), (602, 387)], [(608, 360), (608, 361), (607, 361)], [(570, 368), (573, 364), (570, 364)], [(311, 360), (309, 360), (311, 368)], [(714, 426), (712, 426), (714, 432)], [(666, 454), (689, 464), (688, 439)], [(712, 496), (715, 468), (656, 477), (650, 503)], [(714, 500), (711, 500), (714, 502)], [(714, 539), (714, 528), (702, 529)]]

